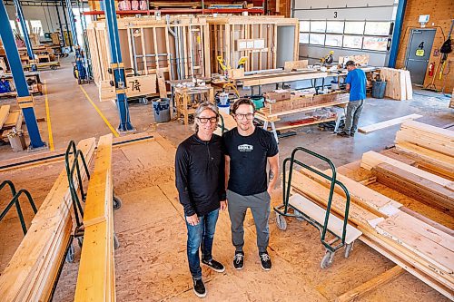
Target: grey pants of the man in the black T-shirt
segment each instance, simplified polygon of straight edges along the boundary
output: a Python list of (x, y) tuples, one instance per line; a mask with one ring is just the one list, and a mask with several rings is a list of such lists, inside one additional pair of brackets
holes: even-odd
[(268, 219), (270, 218), (271, 197), (267, 191), (260, 194), (242, 196), (231, 190), (227, 190), (227, 200), (229, 201), (229, 216), (232, 222), (232, 243), (236, 251), (242, 251), (244, 246), (243, 222), (246, 210), (252, 211), (252, 217), (257, 231), (257, 247), (259, 253), (266, 252), (270, 239), (270, 228)]

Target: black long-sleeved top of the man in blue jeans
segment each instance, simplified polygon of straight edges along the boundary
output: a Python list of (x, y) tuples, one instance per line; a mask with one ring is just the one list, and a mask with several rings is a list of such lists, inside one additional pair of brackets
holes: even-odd
[(202, 141), (193, 134), (178, 146), (175, 183), (185, 216), (203, 216), (219, 209), (219, 202), (225, 200), (224, 170), (219, 135), (212, 134), (210, 141)]

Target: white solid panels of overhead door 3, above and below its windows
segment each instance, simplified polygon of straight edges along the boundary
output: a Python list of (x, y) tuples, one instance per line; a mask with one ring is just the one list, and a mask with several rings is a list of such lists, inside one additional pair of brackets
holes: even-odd
[[(396, 5), (399, 0), (295, 0), (292, 13), (300, 20), (331, 20), (331, 21), (394, 21)], [(300, 44), (301, 59), (309, 58), (315, 63), (334, 51), (334, 59), (352, 54), (369, 54), (370, 65), (383, 66), (388, 63), (389, 54), (350, 50), (329, 46)]]

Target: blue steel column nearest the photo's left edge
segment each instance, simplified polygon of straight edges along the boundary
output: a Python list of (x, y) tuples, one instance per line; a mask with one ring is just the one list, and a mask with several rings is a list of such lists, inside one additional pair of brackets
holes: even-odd
[(28, 135), (30, 136), (30, 148), (44, 147), (45, 143), (41, 140), (38, 123), (36, 122), (33, 96), (28, 92), (28, 85), (25, 80), (24, 69), (22, 67), (19, 52), (15, 45), (15, 37), (11, 24), (9, 24), (8, 14), (6, 13), (5, 3), (0, 1), (0, 37), (2, 38), (6, 57), (13, 73), (15, 88), (17, 90), (17, 103), (24, 114), (27, 125)]

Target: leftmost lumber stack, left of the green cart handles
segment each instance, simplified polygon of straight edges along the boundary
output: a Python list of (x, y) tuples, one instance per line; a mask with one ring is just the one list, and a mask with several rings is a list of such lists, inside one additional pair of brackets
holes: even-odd
[[(94, 138), (77, 144), (88, 164), (94, 146)], [(84, 169), (81, 172), (84, 179)], [(74, 181), (76, 188), (77, 184)], [(0, 301), (49, 300), (73, 231), (72, 211), (68, 178), (63, 170), (0, 276)]]

